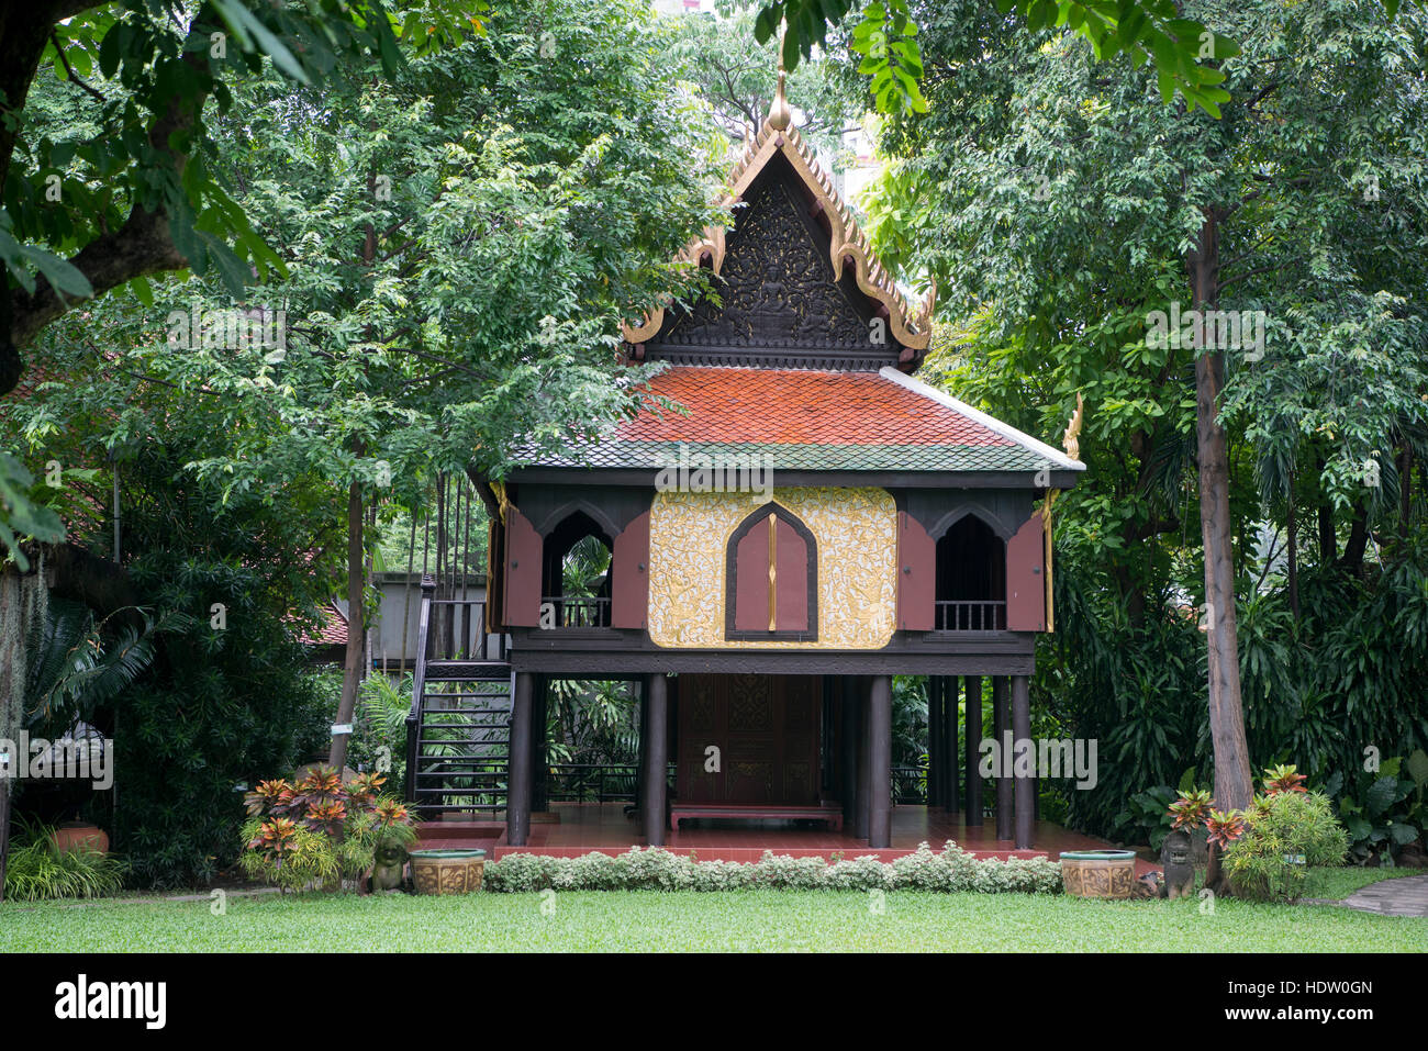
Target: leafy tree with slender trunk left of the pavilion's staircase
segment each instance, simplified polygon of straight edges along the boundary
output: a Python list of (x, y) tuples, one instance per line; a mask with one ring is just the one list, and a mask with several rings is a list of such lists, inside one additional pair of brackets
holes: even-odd
[[(498, 478), (630, 411), (640, 371), (617, 370), (618, 321), (680, 284), (668, 260), (717, 217), (663, 36), (630, 31), (648, 21), (633, 1), (557, 0), (500, 11), (393, 80), (373, 64), (320, 93), (244, 89), (213, 167), (286, 276), (257, 301), (191, 277), (96, 306), (101, 357), (201, 398), (228, 436), (184, 464), (214, 510), (307, 484), (346, 506), (358, 613), (338, 723), (364, 661), (368, 508), (416, 506), (436, 471)], [(120, 411), (101, 433), (146, 434), (130, 428)]]

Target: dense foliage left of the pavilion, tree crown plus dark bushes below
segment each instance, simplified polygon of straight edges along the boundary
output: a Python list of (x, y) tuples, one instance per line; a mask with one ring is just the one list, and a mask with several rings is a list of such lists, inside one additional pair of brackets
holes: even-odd
[[(500, 476), (521, 441), (628, 411), (618, 321), (683, 284), (670, 258), (715, 216), (700, 159), (723, 143), (643, 4), (488, 29), (321, 89), (254, 66), (201, 150), (281, 270), (247, 298), (191, 273), (66, 316), (40, 337), (53, 383), (4, 407), (36, 464), (113, 458), (131, 603), (193, 618), (113, 705), (139, 882), (231, 861), (236, 785), (330, 741), (297, 640), (341, 574), (363, 607), (371, 526), (436, 470)], [(97, 106), (50, 107), (53, 134), (93, 133)], [(109, 481), (76, 481), (71, 524), (111, 554)]]

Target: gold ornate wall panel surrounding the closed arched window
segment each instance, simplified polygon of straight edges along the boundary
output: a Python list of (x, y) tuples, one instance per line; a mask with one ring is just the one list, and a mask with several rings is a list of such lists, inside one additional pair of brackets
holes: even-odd
[(724, 637), (730, 537), (753, 493), (657, 493), (650, 508), (650, 638), (671, 648), (880, 650), (897, 610), (897, 504), (881, 488), (783, 488), (818, 544), (818, 640)]

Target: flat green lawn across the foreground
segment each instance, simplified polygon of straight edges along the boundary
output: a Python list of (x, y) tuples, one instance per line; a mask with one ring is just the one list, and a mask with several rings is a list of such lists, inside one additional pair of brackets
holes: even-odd
[[(1352, 870), (1325, 875), (1339, 892), (1369, 881), (1351, 880)], [(1329, 880), (1317, 880), (1312, 890), (1322, 894)], [(573, 891), (550, 901), (540, 894), (230, 897), (226, 915), (213, 915), (207, 901), (4, 904), (0, 944), (10, 951), (66, 952), (1428, 951), (1428, 920), (1332, 905), (1220, 901), (1205, 915), (1195, 900), (1094, 902), (912, 891), (887, 894), (881, 912), (874, 895), (855, 891)]]

